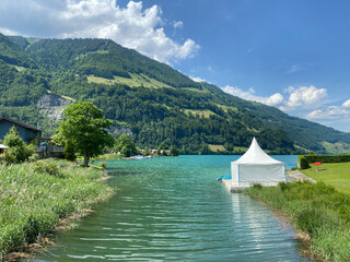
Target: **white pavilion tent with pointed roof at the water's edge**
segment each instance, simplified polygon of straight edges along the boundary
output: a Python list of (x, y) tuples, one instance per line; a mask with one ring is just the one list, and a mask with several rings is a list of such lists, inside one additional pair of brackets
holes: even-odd
[(277, 186), (287, 181), (284, 163), (266, 154), (255, 138), (248, 151), (237, 160), (231, 162), (231, 186), (237, 188), (247, 188), (254, 183)]

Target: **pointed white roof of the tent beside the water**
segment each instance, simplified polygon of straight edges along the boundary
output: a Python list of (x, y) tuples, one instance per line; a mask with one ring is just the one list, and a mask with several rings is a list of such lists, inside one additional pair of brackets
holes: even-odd
[(266, 154), (258, 142), (254, 138), (248, 151), (241, 156), (237, 160), (233, 162), (234, 164), (243, 165), (273, 165), (273, 164), (283, 164), (282, 162), (273, 159), (271, 156)]

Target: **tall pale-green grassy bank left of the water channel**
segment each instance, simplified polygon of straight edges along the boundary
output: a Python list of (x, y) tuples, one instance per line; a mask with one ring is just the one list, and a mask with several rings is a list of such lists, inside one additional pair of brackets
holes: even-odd
[(113, 195), (104, 172), (66, 160), (0, 166), (0, 261)]

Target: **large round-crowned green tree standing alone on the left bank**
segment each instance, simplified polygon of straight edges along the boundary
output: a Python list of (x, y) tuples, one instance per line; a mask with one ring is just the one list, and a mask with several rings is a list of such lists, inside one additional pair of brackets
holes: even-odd
[(113, 144), (113, 138), (105, 130), (112, 121), (103, 119), (103, 111), (92, 103), (71, 104), (63, 116), (66, 120), (59, 126), (59, 132), (84, 156), (85, 167), (90, 157), (102, 154), (105, 146)]

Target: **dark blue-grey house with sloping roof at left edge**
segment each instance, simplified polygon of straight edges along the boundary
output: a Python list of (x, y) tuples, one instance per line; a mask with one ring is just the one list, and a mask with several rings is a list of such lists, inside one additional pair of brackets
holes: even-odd
[(4, 136), (9, 133), (12, 127), (16, 128), (20, 138), (26, 143), (31, 142), (33, 139), (42, 138), (42, 130), (24, 122), (2, 117), (0, 118), (0, 140), (3, 141)]

